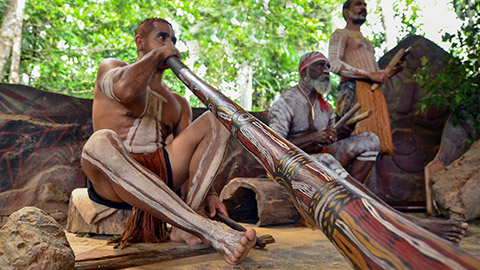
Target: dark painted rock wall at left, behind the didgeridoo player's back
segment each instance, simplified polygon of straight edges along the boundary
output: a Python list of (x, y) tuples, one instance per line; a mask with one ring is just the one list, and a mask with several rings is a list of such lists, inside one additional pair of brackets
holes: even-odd
[(0, 217), (36, 206), (67, 219), (70, 193), (86, 185), (80, 168), (92, 133), (92, 100), (0, 84)]

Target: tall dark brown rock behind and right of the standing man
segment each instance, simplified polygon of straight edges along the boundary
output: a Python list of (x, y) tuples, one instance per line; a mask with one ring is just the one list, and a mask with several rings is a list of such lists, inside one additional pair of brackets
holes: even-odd
[(445, 66), (447, 53), (433, 42), (411, 36), (403, 40), (379, 61), (385, 67), (397, 50), (411, 47), (406, 68), (392, 77), (382, 90), (388, 105), (394, 144), (393, 155), (380, 155), (366, 186), (383, 200), (393, 204), (425, 204), (424, 167), (440, 145), (442, 129), (449, 116), (445, 111), (431, 109), (418, 112), (417, 102), (426, 95), (413, 75), (421, 67), (421, 58), (427, 58), (432, 76)]

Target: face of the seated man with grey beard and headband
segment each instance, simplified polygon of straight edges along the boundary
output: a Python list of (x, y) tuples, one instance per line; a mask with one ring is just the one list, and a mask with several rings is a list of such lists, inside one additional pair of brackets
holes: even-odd
[(320, 60), (307, 67), (305, 83), (310, 89), (315, 89), (324, 95), (330, 92), (330, 63)]

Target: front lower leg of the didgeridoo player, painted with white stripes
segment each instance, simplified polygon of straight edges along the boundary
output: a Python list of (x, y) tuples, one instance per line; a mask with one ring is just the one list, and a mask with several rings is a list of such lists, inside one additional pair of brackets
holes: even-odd
[(129, 155), (115, 132), (107, 129), (95, 132), (85, 144), (82, 158), (113, 183), (164, 215), (167, 222), (201, 235), (222, 254), (230, 257), (235, 252), (242, 234), (193, 211), (162, 179)]

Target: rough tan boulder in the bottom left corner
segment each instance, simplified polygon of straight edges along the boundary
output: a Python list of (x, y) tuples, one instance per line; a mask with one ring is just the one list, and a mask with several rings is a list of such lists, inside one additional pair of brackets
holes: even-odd
[(73, 269), (75, 255), (62, 226), (44, 211), (25, 207), (0, 229), (0, 269)]

